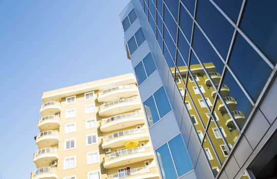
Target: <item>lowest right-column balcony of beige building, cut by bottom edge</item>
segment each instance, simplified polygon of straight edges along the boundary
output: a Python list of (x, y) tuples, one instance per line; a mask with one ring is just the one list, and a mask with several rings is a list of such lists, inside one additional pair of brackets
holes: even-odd
[(112, 175), (108, 175), (107, 177), (107, 179), (118, 179), (118, 178), (156, 179), (156, 178), (160, 178), (160, 174), (159, 174), (159, 169), (157, 167), (141, 167), (141, 168), (134, 168), (130, 170), (117, 172)]

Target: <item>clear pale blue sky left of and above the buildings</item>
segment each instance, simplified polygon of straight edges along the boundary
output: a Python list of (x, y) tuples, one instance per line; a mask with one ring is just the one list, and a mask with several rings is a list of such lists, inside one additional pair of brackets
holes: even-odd
[(131, 73), (129, 0), (0, 0), (0, 179), (30, 178), (44, 91)]

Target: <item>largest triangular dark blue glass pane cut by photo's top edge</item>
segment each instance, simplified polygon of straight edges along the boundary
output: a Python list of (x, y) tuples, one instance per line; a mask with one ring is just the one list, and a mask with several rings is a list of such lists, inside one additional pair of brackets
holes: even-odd
[(238, 20), (243, 0), (214, 0), (223, 11), (234, 21)]

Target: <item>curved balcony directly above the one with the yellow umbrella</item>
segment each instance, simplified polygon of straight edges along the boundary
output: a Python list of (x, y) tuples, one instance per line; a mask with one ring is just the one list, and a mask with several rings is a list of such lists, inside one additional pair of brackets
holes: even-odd
[(148, 141), (150, 139), (147, 129), (129, 129), (114, 132), (102, 138), (102, 148), (116, 148), (124, 146), (126, 142), (135, 140), (138, 142)]

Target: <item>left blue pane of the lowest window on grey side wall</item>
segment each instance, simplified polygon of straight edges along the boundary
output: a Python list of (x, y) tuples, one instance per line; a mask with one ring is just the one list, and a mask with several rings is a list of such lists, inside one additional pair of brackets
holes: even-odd
[(163, 178), (166, 179), (175, 179), (177, 174), (175, 172), (175, 168), (169, 153), (169, 149), (167, 144), (156, 150), (157, 160), (159, 161), (161, 173)]

